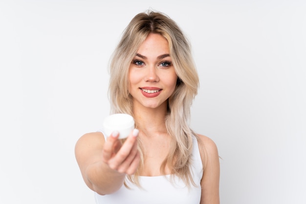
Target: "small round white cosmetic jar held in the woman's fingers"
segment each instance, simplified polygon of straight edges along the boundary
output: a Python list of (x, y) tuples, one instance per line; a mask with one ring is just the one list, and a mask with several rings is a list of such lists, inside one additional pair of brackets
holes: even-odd
[(103, 130), (106, 136), (110, 136), (112, 132), (118, 131), (119, 139), (128, 137), (134, 126), (134, 118), (125, 113), (111, 114), (103, 121)]

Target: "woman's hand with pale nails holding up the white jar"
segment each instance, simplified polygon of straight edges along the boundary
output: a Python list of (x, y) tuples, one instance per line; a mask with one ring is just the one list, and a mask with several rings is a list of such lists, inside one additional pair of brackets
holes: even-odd
[(110, 169), (122, 174), (134, 174), (137, 170), (140, 154), (137, 149), (139, 130), (134, 129), (126, 141), (118, 139), (119, 133), (113, 132), (103, 145), (102, 160)]

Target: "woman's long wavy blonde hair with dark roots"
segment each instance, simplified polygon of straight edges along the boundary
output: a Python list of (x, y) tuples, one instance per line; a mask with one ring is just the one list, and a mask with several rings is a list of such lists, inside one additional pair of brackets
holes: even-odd
[[(199, 80), (187, 38), (178, 25), (165, 14), (153, 11), (139, 13), (126, 27), (109, 65), (110, 112), (133, 115), (132, 97), (127, 89), (129, 67), (138, 47), (150, 33), (161, 34), (167, 39), (172, 63), (178, 76), (175, 91), (168, 99), (165, 119), (168, 134), (172, 136), (171, 148), (160, 170), (165, 173), (165, 167), (170, 166), (172, 179), (174, 175), (178, 176), (189, 186), (191, 183), (195, 184), (191, 175), (191, 154), (192, 137), (197, 138), (189, 127), (190, 107), (197, 94)], [(138, 175), (143, 168), (141, 141), (139, 143), (141, 162), (136, 173), (128, 176), (130, 181), (138, 185)]]

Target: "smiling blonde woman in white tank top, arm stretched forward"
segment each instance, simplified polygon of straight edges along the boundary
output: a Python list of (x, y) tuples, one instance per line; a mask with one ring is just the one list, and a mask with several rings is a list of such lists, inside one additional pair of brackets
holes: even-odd
[(215, 143), (189, 127), (198, 75), (191, 48), (162, 13), (136, 15), (110, 63), (111, 113), (134, 117), (124, 140), (88, 133), (76, 143), (97, 204), (219, 204)]

